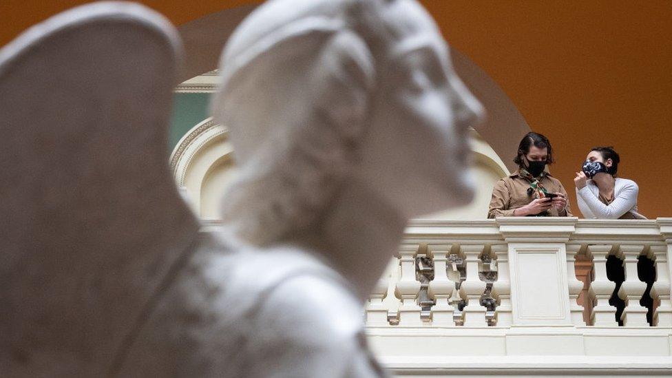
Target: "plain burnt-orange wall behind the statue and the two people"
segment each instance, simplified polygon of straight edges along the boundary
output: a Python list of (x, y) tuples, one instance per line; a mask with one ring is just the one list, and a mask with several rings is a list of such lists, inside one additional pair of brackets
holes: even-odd
[[(81, 0), (0, 1), (0, 45)], [(146, 0), (176, 24), (256, 3)], [(422, 1), (446, 39), (501, 85), (554, 143), (552, 173), (573, 188), (589, 147), (614, 145), (640, 185), (640, 212), (672, 216), (672, 2)], [(514, 151), (512, 151), (512, 155)], [(510, 156), (503, 156), (510, 158)], [(576, 209), (576, 200), (571, 204)]]

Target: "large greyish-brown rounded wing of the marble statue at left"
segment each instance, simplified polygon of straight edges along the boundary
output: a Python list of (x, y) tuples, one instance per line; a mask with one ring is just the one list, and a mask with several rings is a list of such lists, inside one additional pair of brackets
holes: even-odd
[(180, 49), (105, 2), (0, 50), (0, 364), (109, 357), (198, 232), (167, 162)]

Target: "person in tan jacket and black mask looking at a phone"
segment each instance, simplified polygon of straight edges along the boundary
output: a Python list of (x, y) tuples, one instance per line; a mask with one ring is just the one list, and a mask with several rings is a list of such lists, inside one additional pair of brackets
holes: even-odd
[(548, 138), (527, 133), (514, 158), (518, 170), (502, 178), (492, 189), (487, 218), (511, 216), (572, 216), (567, 191), (547, 171), (552, 164), (553, 149)]

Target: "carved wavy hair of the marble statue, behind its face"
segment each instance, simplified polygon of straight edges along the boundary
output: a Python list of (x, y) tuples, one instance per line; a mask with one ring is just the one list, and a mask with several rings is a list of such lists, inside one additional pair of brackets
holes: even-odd
[(357, 164), (376, 85), (374, 53), (361, 37), (362, 25), (379, 28), (371, 4), (382, 3), (301, 14), (242, 45), (234, 35), (224, 51), (213, 113), (230, 128), (240, 173), (222, 220), (245, 240), (269, 244), (319, 222)]

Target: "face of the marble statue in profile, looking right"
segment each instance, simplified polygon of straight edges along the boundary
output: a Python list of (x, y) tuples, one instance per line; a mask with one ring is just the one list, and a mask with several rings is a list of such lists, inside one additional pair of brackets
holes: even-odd
[(368, 174), (394, 188), (386, 195), (408, 216), (465, 204), (473, 196), (468, 127), (483, 108), (452, 70), (448, 45), (419, 4), (392, 2), (384, 17), (395, 42), (379, 68), (371, 140), (379, 156), (367, 156), (379, 171)]

